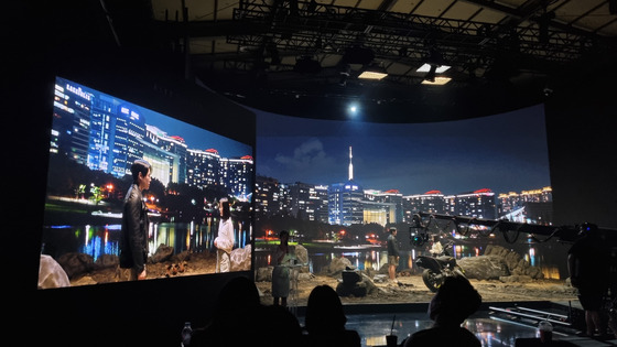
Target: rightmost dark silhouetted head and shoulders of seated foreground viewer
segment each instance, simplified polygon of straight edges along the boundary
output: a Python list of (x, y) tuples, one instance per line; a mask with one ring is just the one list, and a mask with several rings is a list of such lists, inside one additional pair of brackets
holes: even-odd
[(461, 326), (480, 304), (480, 294), (467, 279), (459, 275), (446, 278), (429, 304), (433, 326), (411, 334), (402, 346), (480, 347), (480, 340)]

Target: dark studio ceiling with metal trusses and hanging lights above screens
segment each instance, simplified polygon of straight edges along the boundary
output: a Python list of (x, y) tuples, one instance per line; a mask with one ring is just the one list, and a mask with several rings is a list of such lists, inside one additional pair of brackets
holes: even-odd
[[(369, 121), (435, 121), (542, 102), (613, 65), (616, 2), (66, 1), (53, 7), (64, 33), (53, 44), (147, 52), (183, 78), (275, 113), (347, 119), (355, 101)], [(416, 69), (431, 57), (452, 66), (448, 84), (422, 84)], [(369, 65), (388, 76), (359, 79)]]

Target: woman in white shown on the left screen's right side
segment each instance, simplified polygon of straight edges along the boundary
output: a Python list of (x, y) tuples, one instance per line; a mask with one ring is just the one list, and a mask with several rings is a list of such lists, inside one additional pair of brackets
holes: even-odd
[(214, 239), (216, 247), (216, 272), (229, 272), (231, 270), (231, 250), (234, 249), (234, 224), (229, 200), (221, 198), (218, 202), (220, 220), (218, 223), (218, 236)]

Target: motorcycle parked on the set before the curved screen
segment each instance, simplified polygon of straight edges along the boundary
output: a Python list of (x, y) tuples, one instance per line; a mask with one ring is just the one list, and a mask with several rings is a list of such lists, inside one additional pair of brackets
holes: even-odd
[(424, 269), (422, 271), (422, 281), (433, 293), (437, 291), (447, 276), (465, 276), (465, 271), (456, 263), (456, 258), (447, 252), (446, 248), (450, 246), (452, 243), (442, 248), (440, 243), (437, 249), (441, 248), (441, 250), (433, 251), (435, 250), (435, 247), (433, 247), (431, 250), (432, 256), (418, 256), (415, 259), (415, 264)]

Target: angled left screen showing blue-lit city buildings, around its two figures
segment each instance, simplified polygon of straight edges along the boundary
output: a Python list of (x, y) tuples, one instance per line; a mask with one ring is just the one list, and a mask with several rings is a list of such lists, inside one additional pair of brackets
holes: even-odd
[(53, 121), (39, 289), (118, 281), (123, 198), (138, 159), (152, 165), (144, 191), (149, 280), (217, 271), (214, 240), (223, 198), (230, 202), (235, 234), (230, 271), (251, 270), (250, 139), (210, 131), (215, 116), (197, 127), (62, 76), (48, 102)]

